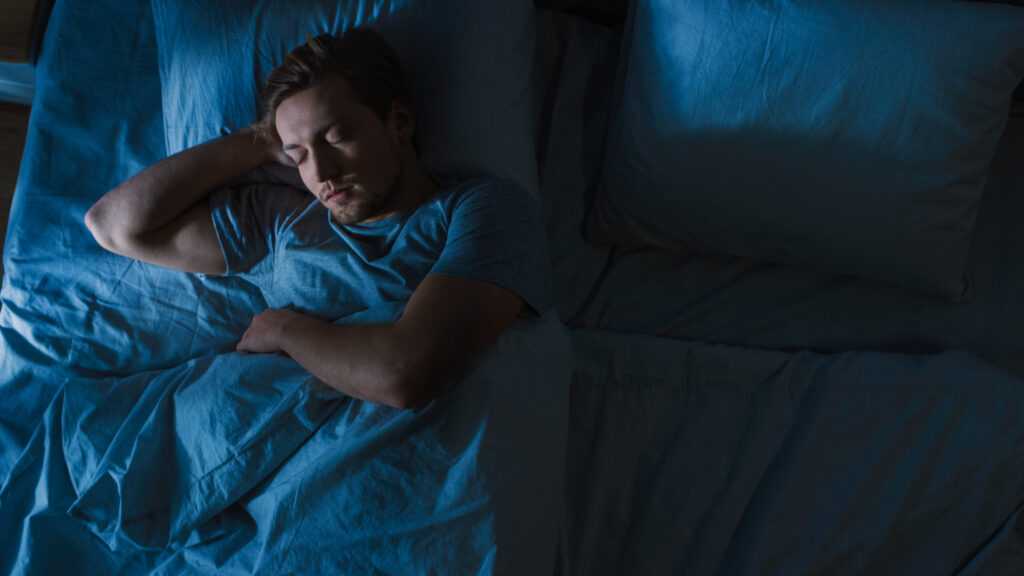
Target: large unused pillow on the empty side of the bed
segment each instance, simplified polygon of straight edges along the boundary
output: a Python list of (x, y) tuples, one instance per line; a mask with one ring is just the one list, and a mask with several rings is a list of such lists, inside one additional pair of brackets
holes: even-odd
[(588, 239), (966, 295), (1024, 9), (637, 0)]

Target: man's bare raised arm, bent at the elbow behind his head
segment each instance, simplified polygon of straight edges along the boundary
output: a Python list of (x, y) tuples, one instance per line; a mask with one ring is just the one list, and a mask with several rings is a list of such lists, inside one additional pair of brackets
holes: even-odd
[(85, 225), (111, 252), (184, 272), (223, 274), (224, 257), (204, 200), (279, 158), (270, 142), (240, 130), (135, 174), (86, 212)]

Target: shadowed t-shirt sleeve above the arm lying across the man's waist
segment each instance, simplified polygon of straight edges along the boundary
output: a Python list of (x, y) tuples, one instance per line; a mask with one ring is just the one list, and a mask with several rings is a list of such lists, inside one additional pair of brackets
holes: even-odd
[(553, 305), (540, 202), (512, 180), (458, 195), (431, 274), (488, 282), (515, 292), (538, 316)]

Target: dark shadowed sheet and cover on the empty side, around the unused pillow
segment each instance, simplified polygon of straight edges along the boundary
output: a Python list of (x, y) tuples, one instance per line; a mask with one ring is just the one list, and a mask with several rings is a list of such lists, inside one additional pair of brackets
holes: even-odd
[[(986, 192), (966, 305), (611, 251), (580, 224), (621, 38), (571, 17), (556, 33), (542, 196), (578, 328), (563, 573), (1024, 573), (1024, 132)], [(939, 354), (956, 347), (977, 357)]]

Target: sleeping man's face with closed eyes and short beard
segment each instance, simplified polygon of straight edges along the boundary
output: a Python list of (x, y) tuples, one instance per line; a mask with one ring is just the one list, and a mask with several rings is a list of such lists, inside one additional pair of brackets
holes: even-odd
[(278, 106), (282, 146), (306, 188), (339, 223), (382, 215), (397, 190), (401, 140), (364, 106), (340, 76), (292, 94)]

